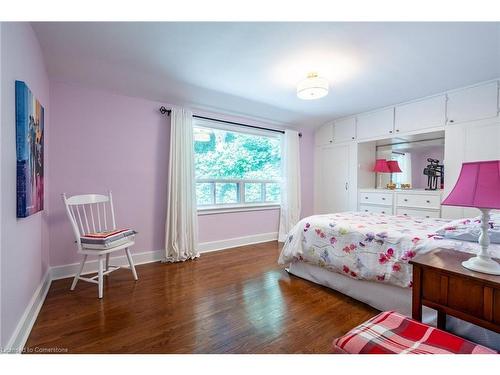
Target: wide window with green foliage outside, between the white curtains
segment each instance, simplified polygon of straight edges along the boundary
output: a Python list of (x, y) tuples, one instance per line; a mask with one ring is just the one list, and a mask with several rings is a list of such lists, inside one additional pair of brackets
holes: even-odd
[(280, 203), (281, 138), (212, 121), (195, 121), (198, 209)]

